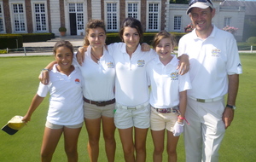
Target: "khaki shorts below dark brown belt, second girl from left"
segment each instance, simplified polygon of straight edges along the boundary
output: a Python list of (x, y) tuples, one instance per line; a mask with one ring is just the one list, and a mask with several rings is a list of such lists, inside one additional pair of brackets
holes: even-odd
[(102, 116), (113, 118), (114, 105), (110, 104), (105, 107), (97, 107), (84, 101), (84, 118), (85, 119), (99, 119)]

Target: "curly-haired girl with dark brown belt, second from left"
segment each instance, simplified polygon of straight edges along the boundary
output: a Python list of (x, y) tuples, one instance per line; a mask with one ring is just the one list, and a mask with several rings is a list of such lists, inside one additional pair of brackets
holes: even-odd
[[(116, 142), (114, 138), (115, 125), (113, 113), (115, 106), (114, 80), (115, 69), (113, 57), (105, 49), (106, 30), (102, 20), (90, 20), (85, 29), (84, 64), (79, 65), (73, 59), (84, 78), (84, 123), (88, 131), (87, 145), (90, 161), (97, 161), (99, 156), (99, 140), (102, 132), (105, 140), (108, 162), (114, 161)], [(53, 63), (46, 68), (50, 69)], [(44, 72), (47, 76), (47, 73)], [(48, 80), (46, 77), (43, 80)]]

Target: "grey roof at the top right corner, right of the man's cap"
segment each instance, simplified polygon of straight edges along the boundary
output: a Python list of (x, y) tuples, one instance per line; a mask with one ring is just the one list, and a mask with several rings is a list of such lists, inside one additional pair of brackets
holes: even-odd
[(256, 1), (224, 1), (220, 6), (245, 7), (245, 15), (256, 15)]

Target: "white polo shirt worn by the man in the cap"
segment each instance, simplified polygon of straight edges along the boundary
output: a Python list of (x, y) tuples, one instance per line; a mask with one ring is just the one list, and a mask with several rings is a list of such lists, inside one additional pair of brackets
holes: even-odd
[(195, 30), (183, 36), (178, 55), (188, 54), (190, 80), (193, 89), (188, 95), (211, 99), (228, 92), (228, 75), (240, 74), (241, 61), (236, 39), (230, 32), (213, 26), (207, 39), (198, 38)]

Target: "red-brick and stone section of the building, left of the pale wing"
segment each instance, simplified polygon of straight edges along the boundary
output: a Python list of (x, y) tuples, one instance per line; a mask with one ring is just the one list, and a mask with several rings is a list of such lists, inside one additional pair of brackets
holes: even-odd
[(132, 16), (146, 32), (165, 29), (167, 0), (0, 0), (0, 33), (84, 35), (88, 20), (105, 20), (108, 32), (119, 32), (120, 22)]

